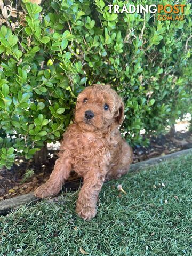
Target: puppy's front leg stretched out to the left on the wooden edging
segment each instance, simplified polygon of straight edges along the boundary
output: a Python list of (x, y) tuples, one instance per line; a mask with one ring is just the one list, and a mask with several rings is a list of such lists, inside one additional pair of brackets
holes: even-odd
[(71, 170), (69, 158), (59, 158), (55, 162), (54, 170), (50, 175), (49, 180), (35, 190), (36, 197), (45, 198), (50, 195), (57, 195), (65, 180), (68, 179)]

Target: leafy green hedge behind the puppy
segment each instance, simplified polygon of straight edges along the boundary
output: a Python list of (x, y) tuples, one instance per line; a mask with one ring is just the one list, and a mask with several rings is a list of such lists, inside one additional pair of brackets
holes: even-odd
[(7, 2), (0, 1), (0, 167), (59, 140), (78, 93), (94, 83), (110, 83), (124, 98), (122, 132), (132, 144), (146, 143), (140, 130), (162, 133), (191, 110), (190, 4), (183, 21), (160, 22), (156, 14), (110, 14), (102, 0), (25, 1), (17, 10)]

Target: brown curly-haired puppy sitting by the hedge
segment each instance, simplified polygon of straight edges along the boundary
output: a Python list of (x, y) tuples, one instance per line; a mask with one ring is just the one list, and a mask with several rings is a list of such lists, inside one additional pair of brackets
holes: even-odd
[(127, 173), (132, 161), (132, 149), (119, 132), (123, 117), (122, 99), (110, 85), (95, 84), (80, 93), (74, 123), (63, 134), (59, 159), (35, 195), (57, 195), (73, 169), (84, 180), (76, 212), (85, 220), (93, 218), (103, 182)]

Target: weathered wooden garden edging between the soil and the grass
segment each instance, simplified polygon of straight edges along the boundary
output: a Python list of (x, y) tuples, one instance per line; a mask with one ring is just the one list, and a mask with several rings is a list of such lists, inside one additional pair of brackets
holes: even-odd
[[(135, 172), (137, 170), (140, 170), (141, 168), (145, 168), (147, 166), (155, 165), (159, 162), (165, 161), (166, 159), (177, 158), (181, 155), (185, 155), (185, 154), (189, 154), (189, 153), (192, 153), (192, 148), (178, 151), (178, 152), (175, 152), (175, 153), (172, 153), (169, 155), (165, 155), (165, 156), (151, 158), (149, 160), (142, 161), (142, 162), (139, 162), (136, 164), (131, 164), (130, 172)], [(66, 189), (66, 190), (72, 189), (73, 190), (74, 188), (78, 188), (80, 184), (81, 184), (81, 179), (72, 180), (72, 181), (65, 183), (64, 189)], [(6, 213), (10, 212), (11, 210), (17, 209), (19, 206), (21, 206), (23, 204), (35, 203), (39, 200), (41, 200), (41, 199), (36, 198), (33, 193), (29, 193), (26, 195), (21, 195), (21, 196), (17, 196), (17, 197), (13, 197), (10, 199), (0, 201), (0, 215), (5, 215)]]

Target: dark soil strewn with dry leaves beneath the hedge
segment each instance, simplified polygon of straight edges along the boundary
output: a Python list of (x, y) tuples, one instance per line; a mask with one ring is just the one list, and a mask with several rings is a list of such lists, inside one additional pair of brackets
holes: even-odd
[[(188, 148), (192, 148), (191, 132), (175, 132), (174, 136), (169, 134), (158, 137), (151, 136), (148, 147), (135, 146), (133, 148), (133, 163)], [(11, 170), (0, 169), (0, 200), (30, 193), (46, 182), (53, 170), (57, 153), (58, 150), (49, 150), (47, 161), (41, 166), (36, 166), (33, 159), (28, 162), (16, 159)], [(30, 178), (25, 178), (26, 172), (31, 172)], [(70, 186), (70, 183), (77, 186), (74, 182), (77, 178), (77, 175), (71, 172), (67, 183), (69, 184), (68, 188), (74, 186)]]

